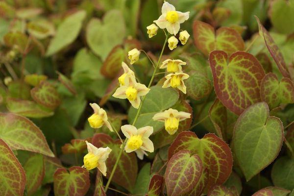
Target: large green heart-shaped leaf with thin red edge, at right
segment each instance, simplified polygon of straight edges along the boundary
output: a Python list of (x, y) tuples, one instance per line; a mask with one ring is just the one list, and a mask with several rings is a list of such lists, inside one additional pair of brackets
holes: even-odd
[(265, 102), (251, 105), (240, 115), (234, 127), (233, 148), (247, 181), (277, 157), (283, 137), (282, 122), (269, 116)]

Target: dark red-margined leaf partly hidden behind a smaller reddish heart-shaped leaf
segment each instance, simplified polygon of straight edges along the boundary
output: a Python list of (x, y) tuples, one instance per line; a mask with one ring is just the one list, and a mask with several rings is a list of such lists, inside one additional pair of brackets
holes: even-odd
[(182, 149), (198, 154), (203, 168), (208, 169), (207, 188), (224, 183), (232, 172), (233, 158), (230, 147), (213, 133), (206, 134), (202, 139), (191, 131), (181, 132), (169, 148), (169, 159)]

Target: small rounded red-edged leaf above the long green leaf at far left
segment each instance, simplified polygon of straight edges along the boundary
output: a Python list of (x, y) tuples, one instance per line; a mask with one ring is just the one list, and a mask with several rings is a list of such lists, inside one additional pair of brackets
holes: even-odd
[(60, 104), (60, 97), (55, 87), (43, 81), (31, 90), (32, 98), (39, 104), (49, 108), (56, 108)]

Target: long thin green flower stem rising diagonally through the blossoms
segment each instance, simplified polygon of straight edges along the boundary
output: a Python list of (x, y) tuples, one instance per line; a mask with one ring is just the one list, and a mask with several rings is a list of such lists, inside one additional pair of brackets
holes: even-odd
[[(156, 65), (156, 67), (155, 67), (155, 69), (154, 69), (154, 71), (153, 71), (153, 74), (152, 74), (152, 76), (151, 76), (150, 82), (149, 82), (149, 84), (148, 84), (148, 88), (150, 88), (150, 86), (151, 86), (151, 84), (152, 84), (152, 82), (153, 82), (153, 80), (154, 80), (155, 73), (157, 72), (157, 69), (158, 69), (158, 66), (159, 66), (159, 63), (160, 63), (160, 60), (161, 60), (161, 57), (162, 57), (163, 51), (164, 51), (165, 46), (166, 46), (166, 44), (167, 44), (167, 41), (168, 41), (168, 34), (166, 35), (166, 39), (165, 39), (164, 45), (163, 45), (163, 47), (162, 47), (162, 50), (161, 50), (160, 56), (159, 56), (159, 58), (158, 58), (157, 65)], [(141, 108), (142, 108), (142, 105), (143, 105), (143, 103), (144, 103), (144, 101), (145, 101), (145, 98), (146, 98), (146, 96), (144, 96), (143, 100), (141, 101), (141, 103), (140, 103), (140, 105), (139, 105), (139, 108), (138, 108), (138, 111), (137, 111), (136, 117), (135, 117), (135, 119), (134, 119), (132, 125), (135, 125), (135, 123), (136, 123), (137, 120), (138, 120), (138, 117), (139, 117), (139, 114), (140, 114), (140, 112), (141, 112)], [(115, 165), (114, 165), (114, 167), (113, 167), (113, 169), (112, 169), (112, 171), (111, 171), (111, 174), (110, 174), (110, 176), (109, 176), (109, 178), (108, 178), (107, 184), (106, 184), (106, 186), (105, 186), (105, 193), (106, 193), (106, 191), (107, 191), (107, 189), (108, 189), (108, 187), (109, 187), (109, 185), (110, 185), (110, 182), (111, 182), (111, 179), (112, 179), (112, 177), (113, 177), (113, 174), (114, 174), (114, 172), (115, 172), (115, 170), (116, 170), (116, 168), (117, 168), (117, 166), (118, 166), (118, 164), (119, 164), (119, 161), (120, 161), (121, 156), (122, 156), (122, 154), (123, 154), (123, 149), (124, 149), (124, 147), (125, 147), (125, 145), (126, 145), (126, 142), (127, 142), (127, 139), (125, 139), (124, 142), (123, 142), (123, 144), (122, 144), (120, 154), (119, 154), (119, 156), (118, 156), (118, 158), (117, 158), (117, 160), (116, 160), (116, 162), (115, 162)]]

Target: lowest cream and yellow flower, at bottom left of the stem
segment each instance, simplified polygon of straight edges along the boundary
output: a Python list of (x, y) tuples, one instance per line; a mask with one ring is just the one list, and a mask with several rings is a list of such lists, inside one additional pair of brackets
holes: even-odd
[(87, 170), (92, 170), (98, 168), (98, 170), (106, 176), (106, 164), (105, 161), (111, 152), (109, 147), (95, 147), (93, 144), (86, 141), (88, 154), (84, 156), (84, 165), (83, 168)]

